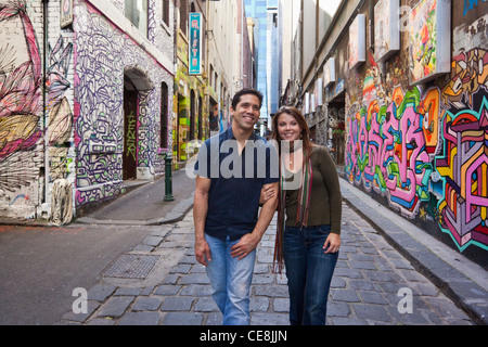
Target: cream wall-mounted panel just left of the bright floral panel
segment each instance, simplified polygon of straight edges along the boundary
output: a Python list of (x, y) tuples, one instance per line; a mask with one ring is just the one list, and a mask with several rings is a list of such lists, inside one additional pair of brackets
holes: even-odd
[(399, 0), (380, 0), (374, 5), (374, 59), (388, 59), (400, 50)]

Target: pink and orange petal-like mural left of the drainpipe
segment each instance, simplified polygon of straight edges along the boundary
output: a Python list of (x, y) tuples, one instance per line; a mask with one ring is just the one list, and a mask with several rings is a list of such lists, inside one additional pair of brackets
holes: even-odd
[(43, 163), (39, 46), (24, 1), (0, 3), (0, 210), (34, 218)]

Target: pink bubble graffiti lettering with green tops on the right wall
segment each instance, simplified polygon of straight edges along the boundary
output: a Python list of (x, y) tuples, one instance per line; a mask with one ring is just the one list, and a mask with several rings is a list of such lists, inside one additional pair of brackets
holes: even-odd
[(349, 117), (347, 172), (355, 172), (350, 180), (369, 191), (387, 192), (390, 204), (412, 218), (419, 202), (428, 198), (432, 167), (426, 164), (423, 117), (416, 112), (419, 90), (402, 95), (397, 89), (394, 94), (388, 106), (375, 100)]

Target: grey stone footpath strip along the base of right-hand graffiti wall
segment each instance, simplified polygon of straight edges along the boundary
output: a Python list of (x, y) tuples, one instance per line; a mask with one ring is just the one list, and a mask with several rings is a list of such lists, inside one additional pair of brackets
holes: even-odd
[(477, 324), (488, 324), (488, 272), (341, 179), (344, 200)]

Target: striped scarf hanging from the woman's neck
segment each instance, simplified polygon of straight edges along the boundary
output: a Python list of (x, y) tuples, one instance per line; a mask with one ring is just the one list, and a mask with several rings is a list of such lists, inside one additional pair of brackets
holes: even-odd
[[(304, 153), (307, 157), (306, 153)], [(280, 175), (280, 192), (278, 196), (278, 221), (277, 221), (277, 237), (274, 241), (274, 257), (273, 257), (273, 272), (281, 273), (284, 265), (284, 226), (285, 226), (285, 204), (286, 204), (286, 191), (284, 191), (284, 164), (281, 165)], [(310, 196), (311, 196), (311, 183), (312, 183), (312, 166), (311, 158), (309, 157), (305, 162), (305, 167), (301, 170), (300, 189), (298, 191), (298, 211), (296, 216), (295, 224), (300, 227), (307, 227), (308, 214), (310, 210)]]

